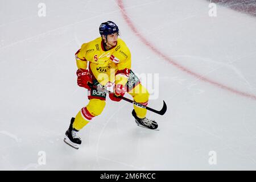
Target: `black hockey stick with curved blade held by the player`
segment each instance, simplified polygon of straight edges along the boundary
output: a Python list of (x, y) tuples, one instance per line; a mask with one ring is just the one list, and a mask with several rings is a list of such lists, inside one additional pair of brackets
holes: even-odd
[[(113, 93), (113, 92), (110, 92), (109, 90), (107, 90), (105, 86), (102, 86), (102, 85), (100, 85), (100, 84), (98, 84), (98, 85), (93, 85), (92, 83), (88, 82), (88, 86), (90, 86), (90, 88), (92, 88), (92, 89), (100, 89), (100, 90), (102, 90), (102, 91), (104, 91), (104, 92), (106, 92), (106, 93)], [(119, 96), (119, 98), (122, 98), (122, 100), (125, 100), (125, 101), (127, 101), (127, 102), (132, 103), (132, 104), (135, 104), (135, 105), (138, 106), (138, 107), (145, 108), (145, 109), (147, 109), (147, 110), (150, 110), (150, 111), (152, 111), (152, 112), (154, 112), (154, 113), (156, 113), (156, 114), (160, 114), (160, 115), (164, 115), (164, 113), (166, 113), (166, 110), (167, 110), (166, 102), (164, 102), (164, 101), (163, 101), (163, 107), (162, 107), (162, 109), (161, 109), (161, 110), (155, 110), (155, 109), (152, 109), (152, 108), (150, 108), (150, 107), (147, 107), (147, 106), (144, 106), (144, 105), (142, 105), (142, 104), (139, 104), (138, 102), (135, 102), (135, 101), (133, 101), (133, 100), (130, 100), (129, 98), (122, 97), (122, 96)]]

